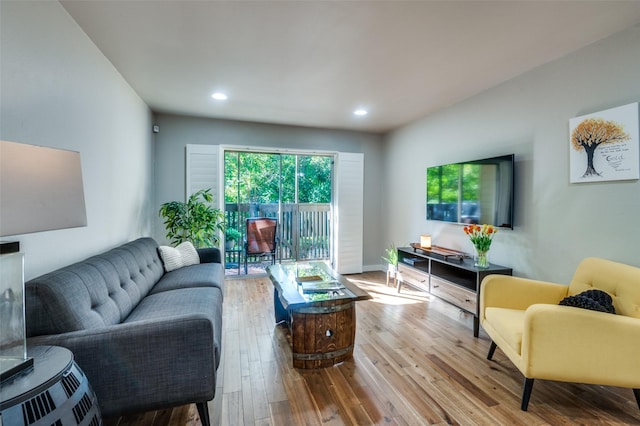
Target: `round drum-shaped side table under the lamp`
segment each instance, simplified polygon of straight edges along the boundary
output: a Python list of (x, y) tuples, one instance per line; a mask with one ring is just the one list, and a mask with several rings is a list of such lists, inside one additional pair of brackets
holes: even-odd
[(0, 416), (5, 426), (102, 425), (89, 380), (58, 346), (33, 346), (33, 369), (0, 385)]

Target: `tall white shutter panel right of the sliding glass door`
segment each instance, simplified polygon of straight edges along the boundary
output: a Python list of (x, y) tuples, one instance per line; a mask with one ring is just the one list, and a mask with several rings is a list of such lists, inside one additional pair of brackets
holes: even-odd
[(339, 274), (362, 272), (364, 237), (364, 154), (339, 153), (336, 161), (335, 247)]

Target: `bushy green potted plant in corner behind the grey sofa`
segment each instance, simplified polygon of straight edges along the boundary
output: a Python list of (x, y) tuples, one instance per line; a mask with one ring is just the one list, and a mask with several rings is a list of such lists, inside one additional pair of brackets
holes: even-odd
[(160, 216), (172, 244), (191, 241), (197, 248), (218, 247), (226, 224), (224, 213), (214, 208), (212, 201), (211, 189), (201, 189), (189, 196), (186, 203), (170, 201), (160, 206)]

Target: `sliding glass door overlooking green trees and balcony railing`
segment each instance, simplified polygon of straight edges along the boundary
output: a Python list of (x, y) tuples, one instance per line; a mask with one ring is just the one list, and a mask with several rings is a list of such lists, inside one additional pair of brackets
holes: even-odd
[[(227, 226), (242, 238), (247, 218), (272, 217), (279, 260), (330, 257), (333, 156), (226, 151), (224, 177)], [(230, 269), (242, 249), (228, 246)]]

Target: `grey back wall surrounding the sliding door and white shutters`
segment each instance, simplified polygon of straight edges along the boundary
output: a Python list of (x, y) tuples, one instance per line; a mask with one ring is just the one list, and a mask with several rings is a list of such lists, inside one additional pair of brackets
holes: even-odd
[[(364, 153), (364, 268), (379, 267), (378, 247), (384, 244), (380, 239), (383, 182), (380, 135), (168, 114), (158, 114), (156, 123), (160, 126), (156, 136), (156, 212), (164, 202), (184, 200), (187, 144)], [(162, 221), (157, 213), (155, 217), (154, 237), (165, 241)]]

